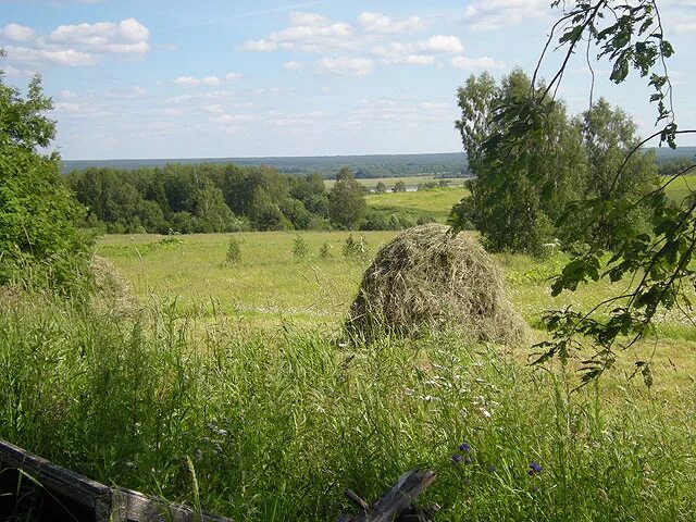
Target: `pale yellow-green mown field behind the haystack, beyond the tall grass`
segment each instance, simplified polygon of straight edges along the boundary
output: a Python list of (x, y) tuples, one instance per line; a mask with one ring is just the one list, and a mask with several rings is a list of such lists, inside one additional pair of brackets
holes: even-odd
[[(397, 232), (352, 233), (368, 245), (368, 258), (376, 253)], [(283, 321), (336, 326), (355, 298), (368, 259), (346, 259), (341, 249), (347, 232), (195, 234), (188, 236), (109, 235), (99, 239), (97, 253), (112, 261), (133, 282), (141, 301), (152, 296), (178, 299), (179, 306), (201, 313), (223, 311), (259, 325)], [(240, 241), (241, 260), (226, 264), (231, 237)], [(301, 237), (309, 246), (306, 259), (293, 256)], [(322, 245), (328, 259), (319, 256)], [(509, 293), (517, 308), (532, 325), (538, 325), (544, 310), (574, 304), (586, 307), (607, 297), (612, 286), (601, 281), (575, 293), (550, 297), (549, 278), (562, 268), (564, 257), (546, 261), (526, 256), (498, 254)], [(667, 318), (663, 331), (675, 339), (696, 341), (696, 331), (679, 318)]]

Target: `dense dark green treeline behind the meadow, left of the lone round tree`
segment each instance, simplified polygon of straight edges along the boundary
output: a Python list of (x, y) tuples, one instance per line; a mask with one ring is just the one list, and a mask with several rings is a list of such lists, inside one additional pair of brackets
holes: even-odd
[(65, 176), (87, 207), (85, 226), (107, 233), (322, 229), (328, 196), (320, 174), (268, 166), (170, 164), (133, 171), (90, 167)]

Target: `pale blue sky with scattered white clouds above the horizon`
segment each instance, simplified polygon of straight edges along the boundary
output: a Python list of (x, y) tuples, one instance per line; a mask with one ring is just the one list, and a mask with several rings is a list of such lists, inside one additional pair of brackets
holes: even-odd
[[(679, 123), (696, 127), (696, 0), (660, 5)], [(555, 15), (548, 0), (0, 0), (0, 69), (42, 75), (64, 159), (451, 152), (457, 87), (531, 71)], [(645, 82), (594, 69), (595, 96), (651, 133)], [(589, 85), (576, 57), (571, 112)]]

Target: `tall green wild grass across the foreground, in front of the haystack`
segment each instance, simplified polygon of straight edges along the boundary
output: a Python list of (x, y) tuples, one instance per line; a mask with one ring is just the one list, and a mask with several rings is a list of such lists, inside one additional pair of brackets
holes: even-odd
[(694, 520), (693, 386), (571, 394), (456, 337), (350, 348), (181, 313), (4, 299), (0, 436), (235, 520), (336, 520), (345, 488), (372, 499), (413, 467), (437, 472), (442, 520)]

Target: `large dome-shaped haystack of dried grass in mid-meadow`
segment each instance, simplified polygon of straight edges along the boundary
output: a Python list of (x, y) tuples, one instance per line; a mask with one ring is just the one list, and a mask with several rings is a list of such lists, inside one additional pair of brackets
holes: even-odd
[(399, 234), (365, 271), (346, 323), (355, 339), (419, 338), (456, 328), (476, 340), (521, 343), (527, 327), (495, 261), (444, 225)]

